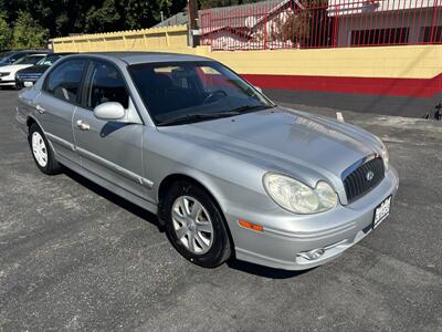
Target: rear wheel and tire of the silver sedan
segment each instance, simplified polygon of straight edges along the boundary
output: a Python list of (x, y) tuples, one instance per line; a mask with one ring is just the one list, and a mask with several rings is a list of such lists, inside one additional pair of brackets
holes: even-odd
[(41, 172), (48, 175), (61, 172), (62, 166), (56, 162), (51, 145), (36, 123), (33, 123), (29, 128), (29, 145), (36, 167)]

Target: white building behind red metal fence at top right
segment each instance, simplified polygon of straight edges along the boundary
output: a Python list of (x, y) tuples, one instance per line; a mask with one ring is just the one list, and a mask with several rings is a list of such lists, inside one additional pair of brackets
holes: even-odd
[(328, 0), (337, 46), (442, 42), (440, 0)]

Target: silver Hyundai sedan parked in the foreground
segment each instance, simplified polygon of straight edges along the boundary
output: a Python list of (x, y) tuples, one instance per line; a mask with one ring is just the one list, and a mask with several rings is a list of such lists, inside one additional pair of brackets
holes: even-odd
[(356, 126), (280, 107), (224, 65), (167, 53), (63, 58), (19, 96), (36, 166), (159, 217), (188, 260), (302, 270), (390, 212), (398, 176)]

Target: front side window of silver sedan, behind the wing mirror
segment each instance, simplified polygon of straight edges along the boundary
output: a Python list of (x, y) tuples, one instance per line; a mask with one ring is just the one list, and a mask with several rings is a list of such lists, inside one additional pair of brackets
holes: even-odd
[(106, 102), (118, 102), (127, 108), (129, 95), (117, 69), (107, 63), (92, 62), (87, 79), (86, 106), (95, 108)]

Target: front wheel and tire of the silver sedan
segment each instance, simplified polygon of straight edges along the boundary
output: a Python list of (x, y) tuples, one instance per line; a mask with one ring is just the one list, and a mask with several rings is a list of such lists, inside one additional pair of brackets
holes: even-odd
[(224, 218), (213, 198), (200, 186), (180, 181), (164, 201), (166, 234), (186, 259), (214, 268), (231, 257)]

